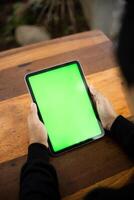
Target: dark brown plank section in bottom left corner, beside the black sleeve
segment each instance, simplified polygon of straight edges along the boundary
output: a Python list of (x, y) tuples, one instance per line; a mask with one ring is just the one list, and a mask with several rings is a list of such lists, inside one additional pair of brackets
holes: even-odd
[(20, 171), (26, 157), (0, 164), (0, 199), (18, 200)]

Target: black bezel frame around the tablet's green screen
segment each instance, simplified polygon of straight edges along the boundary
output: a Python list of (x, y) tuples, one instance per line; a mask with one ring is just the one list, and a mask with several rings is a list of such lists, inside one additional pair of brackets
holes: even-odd
[(93, 102), (92, 95), (91, 95), (91, 92), (90, 92), (89, 87), (88, 87), (88, 85), (87, 85), (87, 82), (86, 82), (86, 79), (85, 79), (85, 76), (84, 76), (82, 67), (81, 67), (81, 65), (80, 65), (80, 63), (79, 63), (78, 61), (66, 62), (66, 63), (60, 64), (60, 65), (55, 65), (55, 66), (53, 66), (53, 67), (49, 67), (49, 68), (42, 69), (42, 70), (39, 70), (39, 71), (34, 71), (34, 72), (31, 72), (31, 73), (28, 73), (28, 74), (25, 75), (25, 82), (26, 82), (28, 91), (29, 91), (29, 93), (30, 93), (30, 95), (31, 95), (31, 97), (32, 97), (33, 102), (35, 102), (36, 105), (37, 105), (39, 119), (45, 124), (45, 122), (44, 122), (43, 119), (42, 119), (41, 113), (40, 113), (40, 111), (39, 111), (38, 104), (37, 104), (37, 102), (36, 102), (36, 99), (35, 99), (35, 96), (34, 96), (32, 87), (31, 87), (31, 85), (30, 85), (29, 77), (31, 77), (31, 76), (33, 76), (33, 75), (36, 75), (36, 74), (44, 73), (44, 72), (47, 72), (47, 71), (56, 70), (56, 69), (58, 69), (58, 68), (67, 67), (67, 65), (70, 65), (70, 64), (77, 64), (77, 66), (78, 66), (79, 72), (80, 72), (80, 74), (81, 74), (83, 83), (84, 83), (84, 85), (85, 85), (86, 91), (87, 91), (88, 96), (89, 96), (89, 99), (91, 100), (91, 104), (92, 104), (92, 107), (93, 107), (95, 116), (96, 116), (96, 118), (97, 118), (97, 120), (98, 120), (98, 123), (99, 123), (99, 126), (100, 126), (100, 129), (101, 129), (101, 132), (102, 132), (102, 133), (101, 133), (99, 136), (97, 136), (97, 137), (93, 137), (93, 138), (87, 139), (87, 140), (85, 140), (85, 141), (82, 141), (82, 142), (79, 142), (79, 143), (77, 143), (77, 144), (71, 145), (71, 146), (66, 147), (66, 148), (64, 148), (64, 149), (62, 149), (62, 150), (59, 150), (59, 151), (57, 151), (57, 152), (54, 151), (53, 146), (52, 146), (52, 144), (51, 144), (51, 141), (50, 141), (50, 139), (49, 139), (49, 134), (48, 134), (49, 148), (50, 148), (51, 155), (53, 155), (53, 156), (56, 156), (56, 155), (59, 155), (59, 154), (61, 154), (61, 153), (63, 153), (63, 152), (72, 150), (72, 149), (74, 149), (74, 148), (76, 148), (76, 147), (80, 147), (80, 146), (82, 146), (82, 145), (84, 145), (84, 144), (87, 144), (87, 143), (89, 143), (89, 142), (92, 142), (92, 141), (97, 140), (97, 139), (99, 139), (99, 138), (101, 138), (101, 137), (104, 136), (104, 129), (103, 129), (102, 125), (101, 125), (101, 120), (100, 120), (100, 118), (99, 118), (99, 115), (98, 115), (96, 106), (95, 106), (95, 104), (94, 104), (94, 102)]

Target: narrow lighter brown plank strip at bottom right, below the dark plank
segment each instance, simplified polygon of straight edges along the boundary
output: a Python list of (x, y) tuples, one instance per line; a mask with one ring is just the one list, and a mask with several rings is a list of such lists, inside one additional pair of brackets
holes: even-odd
[(84, 188), (79, 192), (76, 192), (73, 195), (67, 196), (63, 198), (63, 200), (81, 200), (84, 199), (85, 195), (92, 190), (99, 188), (99, 187), (108, 187), (108, 188), (121, 188), (131, 182), (131, 178), (134, 175), (134, 167), (124, 170), (121, 173), (116, 174), (110, 178), (107, 178), (103, 181), (100, 181), (90, 187)]

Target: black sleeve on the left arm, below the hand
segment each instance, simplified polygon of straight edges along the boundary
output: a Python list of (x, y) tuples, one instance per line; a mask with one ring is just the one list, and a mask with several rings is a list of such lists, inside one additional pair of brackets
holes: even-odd
[(20, 199), (60, 199), (56, 171), (49, 164), (48, 149), (43, 144), (34, 143), (28, 148), (27, 162), (21, 170)]

